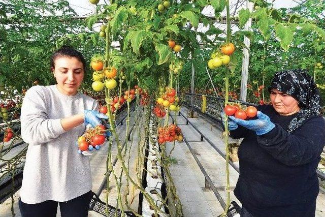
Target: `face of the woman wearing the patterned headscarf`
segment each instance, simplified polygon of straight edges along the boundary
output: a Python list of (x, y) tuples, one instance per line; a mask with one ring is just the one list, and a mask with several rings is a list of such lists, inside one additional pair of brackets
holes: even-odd
[(277, 89), (271, 89), (270, 99), (273, 108), (280, 115), (291, 115), (300, 110), (298, 101), (295, 98)]

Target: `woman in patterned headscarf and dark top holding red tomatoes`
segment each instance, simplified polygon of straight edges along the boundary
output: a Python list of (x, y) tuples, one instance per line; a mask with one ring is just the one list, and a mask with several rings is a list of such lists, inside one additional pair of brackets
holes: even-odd
[(229, 116), (230, 136), (244, 138), (234, 190), (241, 216), (315, 216), (325, 144), (319, 92), (303, 70), (276, 73), (269, 91), (272, 105), (258, 106), (255, 119)]

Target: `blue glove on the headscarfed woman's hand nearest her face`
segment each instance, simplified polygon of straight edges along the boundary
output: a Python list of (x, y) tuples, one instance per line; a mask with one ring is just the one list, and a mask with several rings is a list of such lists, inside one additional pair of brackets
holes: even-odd
[(257, 111), (256, 116), (258, 117), (256, 120), (242, 120), (234, 116), (229, 116), (229, 118), (248, 130), (255, 131), (258, 136), (270, 132), (275, 127), (268, 115), (263, 114), (261, 111)]

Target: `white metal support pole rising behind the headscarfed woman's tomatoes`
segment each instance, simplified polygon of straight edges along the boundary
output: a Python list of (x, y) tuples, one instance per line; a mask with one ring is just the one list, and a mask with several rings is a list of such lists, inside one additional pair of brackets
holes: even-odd
[[(254, 4), (246, 0), (246, 8), (249, 9), (249, 11), (253, 10)], [(252, 19), (249, 18), (247, 23), (245, 24), (245, 31), (248, 31), (252, 25)], [(242, 80), (241, 80), (241, 86), (240, 86), (240, 100), (243, 102), (246, 102), (247, 99), (247, 80), (248, 80), (248, 66), (249, 66), (249, 47), (250, 47), (250, 40), (247, 37), (244, 37), (244, 44), (248, 49), (245, 47), (243, 48), (243, 65), (242, 65)]]

